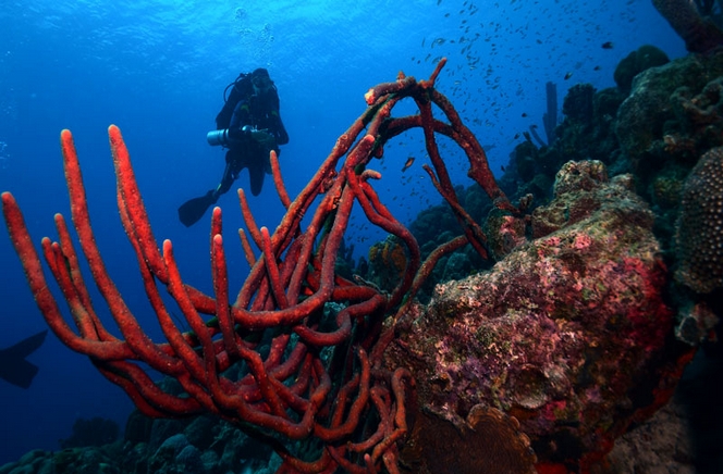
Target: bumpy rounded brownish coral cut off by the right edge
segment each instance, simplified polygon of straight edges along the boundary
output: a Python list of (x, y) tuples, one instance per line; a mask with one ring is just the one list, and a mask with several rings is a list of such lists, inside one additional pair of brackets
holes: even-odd
[(679, 283), (700, 294), (723, 287), (723, 147), (703, 154), (688, 175), (675, 242)]

